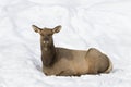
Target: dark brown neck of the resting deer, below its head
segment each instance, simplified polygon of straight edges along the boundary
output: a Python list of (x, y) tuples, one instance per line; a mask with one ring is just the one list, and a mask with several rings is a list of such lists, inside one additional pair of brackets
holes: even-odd
[(45, 66), (51, 66), (55, 63), (56, 60), (56, 48), (53, 46), (53, 42), (45, 47), (41, 44), (41, 61)]

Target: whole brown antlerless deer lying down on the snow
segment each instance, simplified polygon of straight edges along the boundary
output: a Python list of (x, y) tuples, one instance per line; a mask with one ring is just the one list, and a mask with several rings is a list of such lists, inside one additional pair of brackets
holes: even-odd
[(59, 33), (61, 26), (39, 28), (33, 25), (33, 28), (40, 35), (43, 72), (45, 75), (80, 76), (109, 73), (112, 70), (109, 58), (95, 48), (83, 51), (55, 47), (52, 35)]

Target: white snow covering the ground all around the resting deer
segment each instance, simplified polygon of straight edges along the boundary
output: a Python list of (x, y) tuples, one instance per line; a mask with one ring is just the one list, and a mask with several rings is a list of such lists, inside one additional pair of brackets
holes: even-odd
[[(109, 74), (45, 76), (39, 36), (32, 25), (55, 27), (55, 45), (106, 53)], [(130, 87), (130, 0), (0, 0), (0, 87)]]

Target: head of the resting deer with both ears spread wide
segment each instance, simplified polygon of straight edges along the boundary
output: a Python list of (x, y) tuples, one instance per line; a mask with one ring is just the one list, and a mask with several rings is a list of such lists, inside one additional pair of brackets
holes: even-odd
[(36, 25), (32, 25), (33, 29), (40, 35), (40, 44), (47, 50), (51, 45), (53, 45), (52, 35), (59, 33), (61, 26), (56, 26), (55, 28), (39, 28)]

